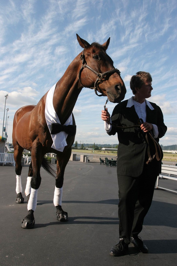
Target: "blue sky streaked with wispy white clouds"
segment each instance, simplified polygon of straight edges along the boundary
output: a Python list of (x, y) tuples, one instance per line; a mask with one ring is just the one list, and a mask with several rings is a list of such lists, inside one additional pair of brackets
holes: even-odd
[[(5, 109), (12, 142), (15, 111), (36, 104), (82, 51), (76, 33), (103, 44), (121, 72), (127, 94), (137, 71), (153, 78), (149, 101), (159, 105), (168, 127), (160, 144), (177, 143), (176, 0), (1, 0), (0, 1), (0, 135)], [(73, 113), (78, 143), (117, 143), (100, 118), (106, 97), (83, 88)], [(108, 102), (111, 113), (115, 104)], [(35, 125), (34, 125), (35, 126)]]

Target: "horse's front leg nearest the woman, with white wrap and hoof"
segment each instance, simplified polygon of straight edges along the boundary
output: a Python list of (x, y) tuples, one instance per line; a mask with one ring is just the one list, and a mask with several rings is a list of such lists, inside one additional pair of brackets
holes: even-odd
[(57, 209), (56, 218), (60, 222), (68, 221), (68, 213), (62, 209), (61, 201), (62, 201), (62, 192), (63, 192), (64, 172), (70, 156), (71, 156), (71, 147), (62, 154), (61, 153), (57, 154), (57, 176), (56, 176), (53, 203)]

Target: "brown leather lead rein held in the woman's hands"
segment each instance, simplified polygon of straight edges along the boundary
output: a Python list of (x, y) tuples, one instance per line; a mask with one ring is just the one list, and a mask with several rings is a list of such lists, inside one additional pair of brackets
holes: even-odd
[[(106, 103), (104, 105), (104, 110), (106, 111), (106, 104), (108, 102), (108, 99), (106, 100)], [(120, 127), (120, 126), (116, 126), (112, 123), (110, 123), (109, 121), (106, 120), (106, 122), (108, 124), (110, 124), (112, 127), (115, 128), (119, 128), (119, 129), (126, 129), (126, 128), (132, 128), (132, 127), (139, 127), (141, 126), (142, 123), (144, 123), (144, 121), (140, 118), (138, 119), (138, 125), (134, 125), (134, 126), (129, 126), (129, 127)], [(153, 159), (156, 157), (157, 161), (161, 160), (163, 158), (163, 152), (162, 152), (162, 148), (159, 145), (159, 143), (153, 138), (153, 136), (151, 135), (150, 132), (146, 132), (145, 134), (145, 138), (146, 138), (146, 143), (147, 143), (147, 152), (148, 152), (148, 161), (146, 162), (146, 164), (149, 164), (153, 161)], [(151, 156), (151, 147), (149, 144), (149, 139), (148, 136), (150, 137), (150, 139), (153, 141), (154, 147), (155, 147), (155, 154)]]

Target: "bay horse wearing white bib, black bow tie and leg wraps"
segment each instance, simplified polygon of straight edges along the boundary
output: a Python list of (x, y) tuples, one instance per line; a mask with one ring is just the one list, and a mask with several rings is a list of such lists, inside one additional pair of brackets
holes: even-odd
[[(54, 206), (57, 209), (56, 218), (61, 222), (68, 221), (68, 213), (61, 207), (62, 186), (65, 167), (71, 156), (71, 147), (76, 132), (72, 111), (82, 88), (94, 89), (96, 95), (107, 96), (109, 101), (113, 103), (119, 103), (125, 97), (126, 88), (120, 77), (120, 71), (114, 68), (112, 59), (106, 53), (110, 38), (100, 45), (96, 42), (89, 44), (78, 34), (76, 35), (83, 51), (75, 57), (64, 75), (40, 99), (37, 105), (23, 106), (16, 111), (14, 116), (12, 143), (17, 181), (16, 203), (24, 202), (21, 185), (22, 153), (24, 149), (31, 151), (31, 163), (25, 189), (28, 213), (22, 219), (22, 228), (30, 229), (35, 225), (34, 211), (37, 205), (37, 191), (41, 183), (41, 165), (50, 174), (54, 175), (52, 168), (44, 159), (48, 152), (56, 153), (57, 157), (57, 170), (54, 175), (56, 176), (54, 191)], [(98, 94), (98, 92), (101, 94)], [(46, 106), (49, 100), (51, 109), (48, 109), (50, 120), (47, 122)], [(58, 119), (57, 122), (51, 117), (52, 113)], [(67, 123), (68, 120), (71, 123)], [(64, 144), (62, 144), (63, 140), (57, 139), (57, 134), (61, 133), (65, 136)], [(54, 139), (57, 140), (56, 145)]]

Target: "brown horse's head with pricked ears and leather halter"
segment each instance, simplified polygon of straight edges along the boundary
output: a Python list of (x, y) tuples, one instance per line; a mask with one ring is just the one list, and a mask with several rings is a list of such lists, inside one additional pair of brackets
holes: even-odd
[(79, 81), (83, 87), (95, 89), (107, 96), (110, 102), (121, 102), (126, 93), (126, 88), (120, 71), (115, 69), (113, 61), (106, 53), (110, 38), (102, 45), (98, 43), (89, 44), (77, 35), (77, 40), (82, 48), (82, 66), (79, 71)]

